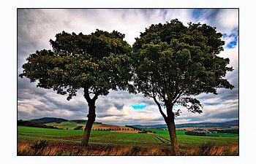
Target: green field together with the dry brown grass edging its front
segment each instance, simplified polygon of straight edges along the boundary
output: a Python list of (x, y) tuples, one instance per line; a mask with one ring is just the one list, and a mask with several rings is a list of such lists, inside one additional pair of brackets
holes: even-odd
[[(149, 129), (147, 129), (149, 130)], [(90, 151), (79, 155), (170, 155), (167, 130), (156, 133), (119, 133), (92, 130)], [(181, 155), (238, 155), (238, 136), (187, 136), (177, 130)], [(56, 130), (18, 126), (18, 155), (35, 155), (35, 144), (46, 141), (48, 153), (39, 155), (78, 155), (83, 130)], [(53, 149), (54, 148), (54, 149)], [(28, 152), (30, 151), (32, 152)], [(54, 153), (54, 151), (55, 153)], [(58, 153), (57, 153), (58, 152)], [(34, 153), (34, 154), (33, 154)]]

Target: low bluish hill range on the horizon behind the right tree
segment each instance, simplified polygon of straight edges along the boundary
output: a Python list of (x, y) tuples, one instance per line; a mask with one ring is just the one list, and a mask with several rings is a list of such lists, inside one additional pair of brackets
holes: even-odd
[[(231, 127), (231, 126), (238, 126), (238, 120), (233, 120), (230, 122), (200, 122), (200, 123), (185, 123), (185, 124), (178, 124), (176, 128), (187, 128), (187, 127)], [(167, 128), (167, 125), (131, 125), (135, 128)]]

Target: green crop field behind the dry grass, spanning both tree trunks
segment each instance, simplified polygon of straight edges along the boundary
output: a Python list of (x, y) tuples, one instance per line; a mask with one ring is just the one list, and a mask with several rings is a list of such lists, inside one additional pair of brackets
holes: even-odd
[[(170, 148), (170, 138), (167, 130), (147, 129), (156, 133), (120, 133), (116, 131), (92, 130), (89, 139), (90, 145), (108, 147), (159, 147)], [(212, 136), (187, 136), (183, 130), (177, 130), (178, 146), (180, 152), (186, 153), (189, 149), (198, 147), (238, 147), (238, 135), (236, 134), (211, 134)], [(219, 135), (219, 136), (214, 136)], [(30, 128), (18, 126), (18, 144), (48, 141), (48, 144), (59, 146), (63, 149), (79, 147), (83, 137), (83, 130), (56, 130), (46, 128)], [(67, 148), (69, 149), (69, 148)]]

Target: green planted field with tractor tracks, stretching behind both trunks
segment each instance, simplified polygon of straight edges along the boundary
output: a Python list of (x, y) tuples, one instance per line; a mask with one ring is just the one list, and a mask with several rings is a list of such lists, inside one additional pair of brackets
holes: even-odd
[[(18, 126), (18, 142), (47, 140), (53, 143), (80, 144), (83, 130), (55, 130)], [(200, 144), (217, 146), (238, 144), (238, 136), (187, 136), (177, 130), (178, 144), (182, 148), (195, 147)], [(116, 131), (91, 131), (90, 144), (165, 144), (170, 143), (167, 131), (150, 133), (118, 133)]]

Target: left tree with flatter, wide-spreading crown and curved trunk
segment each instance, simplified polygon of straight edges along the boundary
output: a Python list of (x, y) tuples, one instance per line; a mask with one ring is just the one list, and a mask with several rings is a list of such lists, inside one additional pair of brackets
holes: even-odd
[(56, 34), (55, 41), (50, 39), (50, 44), (53, 50), (40, 50), (26, 58), (19, 76), (30, 82), (38, 80), (37, 87), (68, 94), (68, 101), (83, 89), (89, 114), (82, 147), (87, 147), (98, 96), (129, 86), (132, 47), (124, 41), (124, 34), (99, 30), (89, 35), (63, 31)]

